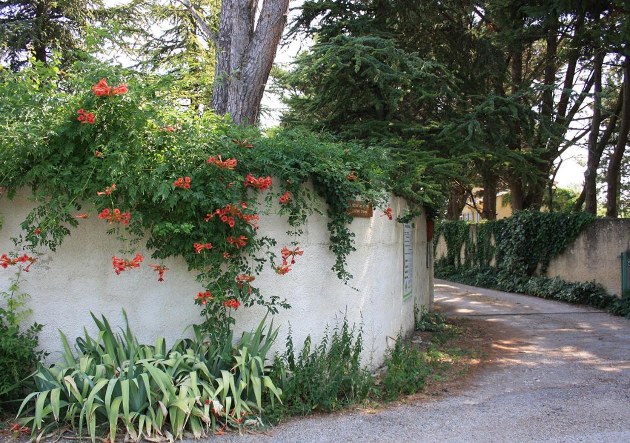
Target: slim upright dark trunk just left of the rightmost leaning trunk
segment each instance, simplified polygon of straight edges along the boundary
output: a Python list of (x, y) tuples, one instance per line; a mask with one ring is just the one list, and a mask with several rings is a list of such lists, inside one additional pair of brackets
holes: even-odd
[(599, 137), (599, 125), (602, 123), (602, 64), (604, 64), (604, 50), (596, 49), (593, 57), (593, 76), (595, 78), (595, 100), (593, 101), (593, 119), (591, 121), (590, 135), (588, 136), (587, 170), (584, 173), (585, 210), (590, 214), (597, 212), (597, 139)]

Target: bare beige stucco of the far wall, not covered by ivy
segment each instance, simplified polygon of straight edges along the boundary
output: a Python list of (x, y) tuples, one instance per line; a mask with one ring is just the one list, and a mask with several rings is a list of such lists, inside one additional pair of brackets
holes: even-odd
[[(473, 238), (476, 226), (471, 224)], [(630, 250), (630, 219), (597, 219), (547, 267), (547, 277), (559, 277), (568, 282), (595, 280), (609, 294), (621, 295), (621, 258)], [(435, 260), (447, 255), (448, 248), (441, 235), (435, 248)], [(464, 247), (462, 246), (462, 263)], [(495, 259), (491, 265), (496, 265)]]

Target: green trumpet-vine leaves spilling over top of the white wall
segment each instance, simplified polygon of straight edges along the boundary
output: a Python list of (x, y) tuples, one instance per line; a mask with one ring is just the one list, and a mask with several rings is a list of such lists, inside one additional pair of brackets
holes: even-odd
[[(112, 86), (127, 83), (129, 91), (96, 96), (91, 88), (101, 78)], [(205, 221), (209, 214), (227, 205), (247, 216), (277, 212), (292, 225), (295, 247), (306, 216), (321, 211), (316, 196), (324, 198), (333, 270), (347, 282), (352, 275), (345, 265), (354, 250), (348, 200), (386, 202), (387, 151), (302, 130), (263, 135), (212, 113), (182, 110), (168, 94), (168, 76), (88, 61), (76, 62), (63, 75), (52, 64), (17, 74), (0, 70), (0, 79), (0, 186), (9, 198), (29, 187), (38, 203), (16, 243), (54, 251), (79, 223), (77, 212), (91, 217), (104, 209), (130, 212), (129, 226), (115, 223), (109, 231), (122, 240), (119, 254), (130, 260), (144, 237), (153, 260), (183, 257), (197, 270), (200, 286), (212, 292), (214, 301), (202, 306), (202, 313), (206, 330), (217, 335), (224, 336), (232, 322), (223, 304), (230, 299), (245, 307), (262, 304), (272, 313), (288, 306), (277, 294), (263, 296), (236, 280), (257, 275), (265, 263), (275, 269), (285, 245), (276, 250), (275, 239), (259, 235), (255, 222), (236, 219), (230, 227), (220, 217)], [(80, 108), (95, 114), (94, 124), (77, 121)], [(237, 159), (233, 170), (207, 163), (219, 154)], [(348, 180), (352, 171), (357, 180)], [(273, 176), (273, 191), (260, 197), (245, 184), (248, 174)], [(189, 190), (173, 185), (184, 176), (191, 179)], [(110, 195), (97, 195), (113, 184)], [(278, 209), (284, 192), (290, 192), (290, 202)], [(240, 236), (247, 238), (243, 247), (227, 241)], [(196, 253), (194, 243), (211, 243), (212, 250)]]

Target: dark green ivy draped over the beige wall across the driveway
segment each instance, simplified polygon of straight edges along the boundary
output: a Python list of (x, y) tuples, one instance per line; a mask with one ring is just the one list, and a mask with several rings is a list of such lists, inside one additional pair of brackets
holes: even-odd
[[(600, 284), (565, 282), (536, 275), (544, 273), (551, 259), (563, 253), (595, 219), (584, 212), (517, 211), (507, 219), (478, 224), (440, 222), (435, 226), (434, 246), (442, 236), (448, 253), (435, 263), (435, 276), (501, 291), (588, 304), (624, 315), (627, 302), (610, 296)], [(434, 251), (437, 248), (434, 247)]]

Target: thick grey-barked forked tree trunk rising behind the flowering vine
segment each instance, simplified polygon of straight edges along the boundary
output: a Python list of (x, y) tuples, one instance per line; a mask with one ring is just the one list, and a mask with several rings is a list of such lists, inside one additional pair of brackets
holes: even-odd
[(188, 0), (180, 1), (217, 47), (210, 107), (217, 114), (229, 114), (239, 125), (256, 124), (265, 84), (287, 24), (289, 0), (263, 0), (258, 23), (258, 0), (222, 0), (217, 35)]

